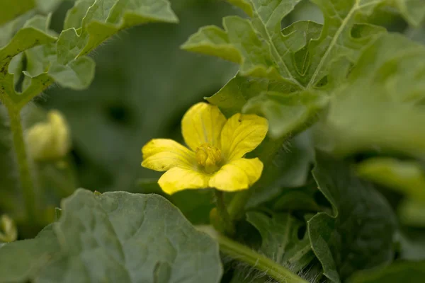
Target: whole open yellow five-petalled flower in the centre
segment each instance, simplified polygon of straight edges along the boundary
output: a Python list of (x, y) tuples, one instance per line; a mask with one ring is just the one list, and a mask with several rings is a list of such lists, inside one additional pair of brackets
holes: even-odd
[(244, 190), (259, 180), (263, 171), (259, 158), (244, 155), (261, 144), (267, 130), (263, 117), (235, 114), (227, 120), (217, 106), (198, 103), (181, 121), (189, 149), (171, 139), (152, 139), (142, 148), (142, 166), (166, 171), (158, 183), (170, 195), (206, 187)]

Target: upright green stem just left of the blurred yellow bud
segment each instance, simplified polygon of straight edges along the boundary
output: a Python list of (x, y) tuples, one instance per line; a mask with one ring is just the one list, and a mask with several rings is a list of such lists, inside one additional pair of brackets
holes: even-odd
[(26, 216), (28, 220), (33, 219), (37, 212), (35, 207), (35, 190), (33, 178), (30, 172), (28, 163), (28, 156), (26, 153), (26, 144), (23, 139), (23, 128), (21, 123), (21, 109), (13, 108), (11, 105), (6, 105), (8, 116), (11, 123), (11, 132), (13, 137), (13, 148), (16, 153), (16, 160), (18, 162), (19, 177), (21, 180), (21, 188), (23, 192), (23, 199), (26, 207)]

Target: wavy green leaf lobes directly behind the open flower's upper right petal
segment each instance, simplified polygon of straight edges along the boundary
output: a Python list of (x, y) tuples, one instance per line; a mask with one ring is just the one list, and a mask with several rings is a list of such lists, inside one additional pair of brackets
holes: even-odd
[(226, 115), (254, 112), (270, 123), (272, 138), (296, 134), (308, 127), (319, 110), (327, 105), (327, 96), (319, 91), (297, 91), (294, 86), (244, 77), (231, 79), (208, 102), (217, 105)]

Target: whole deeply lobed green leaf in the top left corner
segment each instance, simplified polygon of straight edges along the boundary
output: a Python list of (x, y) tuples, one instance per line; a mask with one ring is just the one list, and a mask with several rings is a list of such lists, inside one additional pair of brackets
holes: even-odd
[[(40, 9), (48, 10), (59, 2), (40, 2)], [(148, 22), (176, 21), (166, 0), (81, 0), (69, 11), (64, 23), (65, 27), (71, 23), (79, 25), (78, 30), (69, 27), (56, 38), (48, 30), (50, 16), (35, 16), (0, 50), (0, 84), (3, 86), (0, 97), (2, 100), (10, 98), (11, 101), (4, 102), (21, 108), (54, 81), (69, 88), (87, 88), (94, 78), (95, 64), (93, 59), (84, 57), (85, 54), (124, 28)], [(30, 50), (36, 45), (40, 46)], [(17, 80), (7, 69), (12, 57), (23, 51), (30, 64), (23, 71), (23, 92), (18, 93), (14, 84)]]

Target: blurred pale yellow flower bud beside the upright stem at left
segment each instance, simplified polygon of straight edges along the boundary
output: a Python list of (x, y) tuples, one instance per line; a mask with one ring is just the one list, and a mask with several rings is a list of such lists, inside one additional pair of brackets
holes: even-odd
[(57, 110), (47, 114), (47, 122), (39, 122), (28, 129), (27, 141), (30, 155), (38, 161), (60, 159), (71, 147), (69, 127)]

